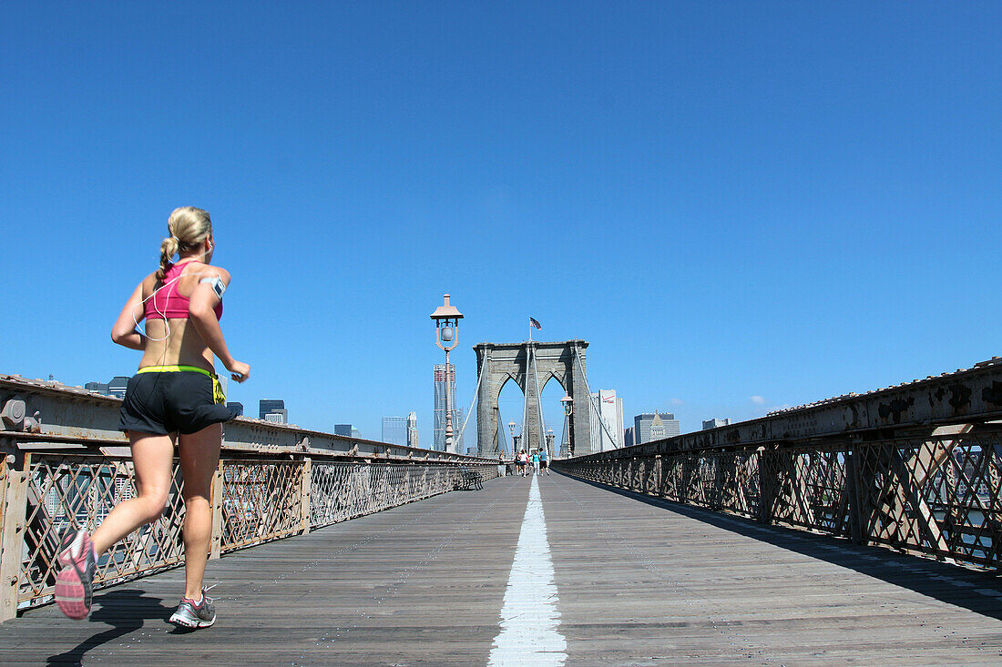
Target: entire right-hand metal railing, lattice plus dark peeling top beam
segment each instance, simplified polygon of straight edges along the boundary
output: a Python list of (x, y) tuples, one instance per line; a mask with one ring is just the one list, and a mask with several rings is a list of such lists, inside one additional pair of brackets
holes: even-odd
[(556, 460), (632, 492), (1002, 566), (1002, 364)]

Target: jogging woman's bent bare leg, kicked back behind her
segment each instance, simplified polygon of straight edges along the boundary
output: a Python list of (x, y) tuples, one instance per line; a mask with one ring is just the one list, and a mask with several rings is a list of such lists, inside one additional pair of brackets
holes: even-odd
[(111, 545), (163, 513), (170, 493), (174, 437), (130, 431), (136, 497), (119, 503), (94, 531), (91, 541), (100, 556)]

